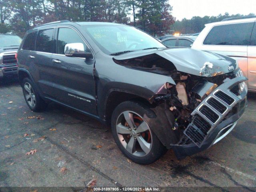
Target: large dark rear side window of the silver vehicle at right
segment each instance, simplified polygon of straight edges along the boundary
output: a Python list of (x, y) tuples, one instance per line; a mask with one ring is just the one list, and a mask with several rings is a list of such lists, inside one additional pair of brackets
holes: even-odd
[(215, 26), (204, 40), (205, 45), (248, 45), (254, 22)]

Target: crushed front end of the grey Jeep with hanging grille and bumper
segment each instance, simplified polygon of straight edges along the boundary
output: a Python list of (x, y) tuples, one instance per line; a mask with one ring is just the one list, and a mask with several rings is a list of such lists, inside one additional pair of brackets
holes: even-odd
[(247, 78), (239, 68), (212, 77), (178, 72), (172, 78), (176, 85), (166, 87), (168, 98), (155, 100), (164, 99), (174, 116), (170, 124), (179, 141), (170, 148), (182, 159), (209, 148), (236, 126), (247, 104)]

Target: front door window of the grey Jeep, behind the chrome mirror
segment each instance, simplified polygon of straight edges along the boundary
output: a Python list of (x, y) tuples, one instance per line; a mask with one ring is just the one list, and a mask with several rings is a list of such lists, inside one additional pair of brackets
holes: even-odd
[(65, 45), (68, 43), (82, 43), (84, 50), (90, 52), (82, 38), (71, 28), (59, 28), (57, 41), (57, 54), (64, 54)]

